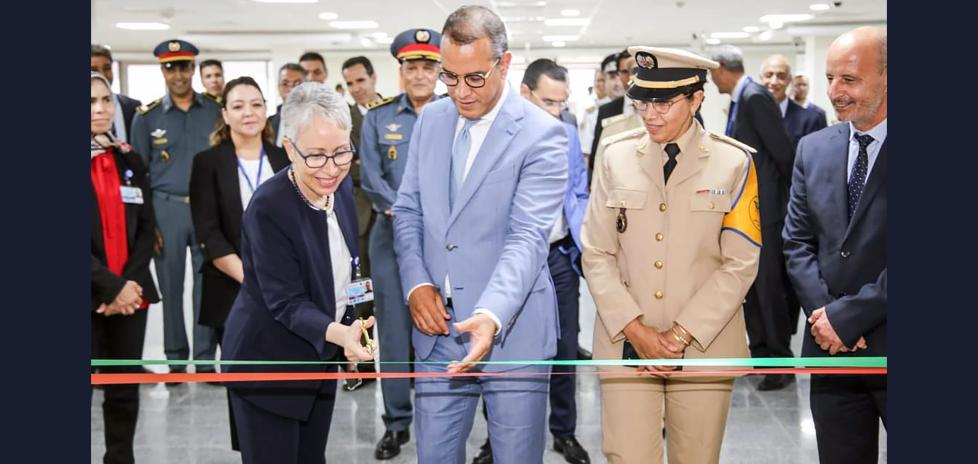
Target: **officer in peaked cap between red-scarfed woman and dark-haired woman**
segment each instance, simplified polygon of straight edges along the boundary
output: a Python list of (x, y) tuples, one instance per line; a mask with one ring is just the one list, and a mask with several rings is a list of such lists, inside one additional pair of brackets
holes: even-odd
[[(166, 95), (138, 109), (133, 119), (131, 142), (149, 166), (153, 209), (159, 228), (157, 254), (153, 259), (163, 297), (163, 350), (167, 359), (189, 359), (183, 320), (183, 282), (187, 247), (190, 247), (194, 276), (193, 359), (214, 359), (214, 330), (200, 325), (200, 280), (203, 254), (194, 237), (190, 216), (190, 169), (194, 156), (210, 147), (208, 140), (220, 114), (210, 97), (194, 92), (194, 57), (198, 50), (190, 42), (173, 39), (153, 49), (166, 81)], [(159, 243), (162, 241), (162, 245)], [(172, 366), (171, 372), (182, 372)], [(197, 372), (213, 371), (197, 366)]]

